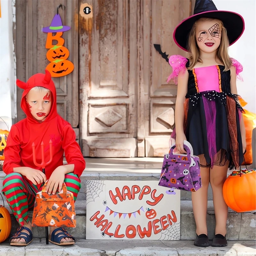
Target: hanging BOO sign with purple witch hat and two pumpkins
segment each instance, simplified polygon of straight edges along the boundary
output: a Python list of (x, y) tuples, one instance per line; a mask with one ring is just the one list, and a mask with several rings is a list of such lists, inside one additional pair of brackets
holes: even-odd
[[(46, 53), (46, 58), (50, 63), (47, 65), (46, 69), (51, 73), (52, 77), (67, 76), (74, 70), (74, 64), (67, 60), (69, 51), (63, 46), (65, 40), (61, 37), (63, 32), (68, 31), (70, 27), (63, 26), (58, 12), (59, 8), (62, 9), (61, 4), (57, 8), (57, 14), (53, 17), (51, 25), (42, 29), (44, 33), (47, 33), (45, 48), (49, 49)], [(53, 35), (53, 33), (56, 34)], [(52, 44), (53, 40), (57, 41), (56, 45)]]

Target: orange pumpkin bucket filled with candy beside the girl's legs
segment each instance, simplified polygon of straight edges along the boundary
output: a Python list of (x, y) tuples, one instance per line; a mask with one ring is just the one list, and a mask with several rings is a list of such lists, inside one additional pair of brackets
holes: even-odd
[(223, 197), (236, 212), (256, 210), (256, 171), (232, 172), (223, 185)]

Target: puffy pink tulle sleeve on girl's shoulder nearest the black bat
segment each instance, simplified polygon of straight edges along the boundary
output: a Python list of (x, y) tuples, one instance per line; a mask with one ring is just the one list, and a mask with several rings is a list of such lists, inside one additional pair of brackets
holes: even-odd
[(185, 57), (182, 57), (180, 55), (172, 55), (169, 58), (169, 64), (172, 67), (172, 74), (168, 77), (167, 83), (170, 80), (173, 80), (175, 84), (178, 83), (178, 75), (180, 71), (186, 70), (186, 63), (188, 62), (188, 59)]

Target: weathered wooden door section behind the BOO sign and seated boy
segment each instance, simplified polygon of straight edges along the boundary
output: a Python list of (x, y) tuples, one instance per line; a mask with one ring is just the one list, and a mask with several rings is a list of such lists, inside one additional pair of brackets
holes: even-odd
[[(16, 55), (16, 76), (22, 81), (36, 73), (44, 73), (49, 61), (46, 59), (46, 33), (41, 30), (50, 26), (53, 16), (57, 13), (60, 1), (19, 0), (16, 1), (16, 24), (14, 24), (14, 46)], [(59, 9), (63, 25), (71, 29), (64, 32), (64, 46), (69, 50), (68, 60), (74, 63), (74, 71), (60, 78), (52, 78), (57, 91), (57, 109), (60, 116), (74, 128), (79, 139), (78, 109), (78, 22), (75, 14), (79, 11), (78, 0), (62, 0), (65, 10)], [(64, 7), (63, 7), (64, 9)], [(78, 16), (77, 16), (78, 17)], [(20, 109), (23, 90), (17, 88), (17, 121), (25, 117)]]

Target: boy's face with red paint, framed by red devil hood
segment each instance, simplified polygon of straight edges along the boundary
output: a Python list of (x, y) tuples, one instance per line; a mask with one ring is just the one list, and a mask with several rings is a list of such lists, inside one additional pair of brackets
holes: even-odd
[(29, 111), (34, 119), (43, 122), (51, 110), (51, 93), (30, 90), (26, 96)]

